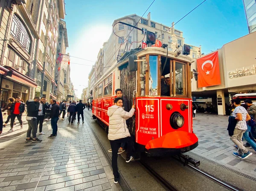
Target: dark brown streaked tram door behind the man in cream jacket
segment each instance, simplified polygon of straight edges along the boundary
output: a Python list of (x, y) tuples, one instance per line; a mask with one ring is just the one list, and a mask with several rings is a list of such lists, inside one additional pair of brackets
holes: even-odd
[[(130, 111), (133, 104), (133, 92), (136, 90), (136, 71), (129, 71), (128, 67), (122, 68), (120, 72), (120, 86), (123, 91), (125, 111)], [(135, 135), (135, 115), (126, 120), (131, 135)]]

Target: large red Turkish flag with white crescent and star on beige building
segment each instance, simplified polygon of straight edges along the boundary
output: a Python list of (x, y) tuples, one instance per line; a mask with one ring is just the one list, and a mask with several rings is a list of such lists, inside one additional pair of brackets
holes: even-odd
[(198, 88), (221, 84), (218, 51), (197, 59)]

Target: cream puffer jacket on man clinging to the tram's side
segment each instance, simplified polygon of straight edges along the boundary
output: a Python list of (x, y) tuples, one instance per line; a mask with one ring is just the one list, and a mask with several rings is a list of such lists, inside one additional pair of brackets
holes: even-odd
[(127, 125), (125, 123), (130, 117), (133, 116), (135, 109), (131, 108), (129, 112), (123, 108), (112, 105), (108, 108), (109, 127), (108, 127), (108, 139), (116, 140), (125, 137), (131, 137)]

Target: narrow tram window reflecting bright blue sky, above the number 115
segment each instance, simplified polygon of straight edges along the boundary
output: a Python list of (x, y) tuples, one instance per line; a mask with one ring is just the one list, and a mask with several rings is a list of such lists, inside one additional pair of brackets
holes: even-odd
[(149, 56), (149, 95), (157, 96), (158, 56)]

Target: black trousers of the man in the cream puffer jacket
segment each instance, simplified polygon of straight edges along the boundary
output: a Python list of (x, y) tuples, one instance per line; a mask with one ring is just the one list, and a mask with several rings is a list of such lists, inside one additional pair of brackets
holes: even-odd
[(126, 153), (126, 158), (130, 158), (133, 155), (133, 145), (134, 142), (131, 137), (125, 137), (122, 139), (117, 139), (117, 140), (109, 140), (111, 149), (112, 149), (112, 168), (113, 168), (113, 175), (115, 178), (119, 177), (118, 174), (118, 168), (117, 168), (117, 152), (118, 149), (121, 146), (121, 143), (127, 143), (127, 153)]

